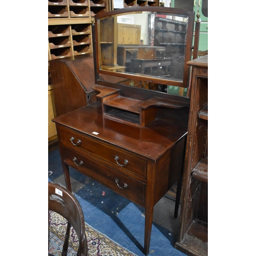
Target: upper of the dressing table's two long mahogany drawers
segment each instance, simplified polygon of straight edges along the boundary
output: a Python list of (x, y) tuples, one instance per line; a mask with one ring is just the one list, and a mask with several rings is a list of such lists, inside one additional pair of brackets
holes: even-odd
[[(59, 137), (63, 144), (100, 158), (112, 166), (146, 179), (147, 161), (121, 150), (118, 147), (84, 136), (72, 130), (60, 127)], [(73, 139), (72, 139), (73, 138)], [(71, 140), (72, 139), (72, 140)]]

